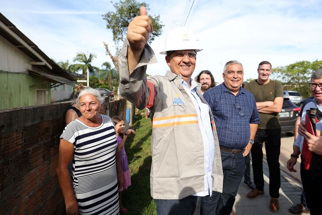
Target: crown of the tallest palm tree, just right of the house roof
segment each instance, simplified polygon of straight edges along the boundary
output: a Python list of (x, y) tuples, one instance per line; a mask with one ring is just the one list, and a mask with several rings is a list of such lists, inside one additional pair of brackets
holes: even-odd
[(93, 53), (90, 53), (89, 55), (85, 54), (84, 52), (77, 53), (73, 61), (78, 61), (80, 63), (73, 65), (72, 72), (82, 71), (84, 76), (87, 76), (87, 70), (90, 73), (94, 73), (94, 70), (100, 73), (100, 69), (98, 67), (91, 65), (92, 61), (96, 57), (96, 54)]

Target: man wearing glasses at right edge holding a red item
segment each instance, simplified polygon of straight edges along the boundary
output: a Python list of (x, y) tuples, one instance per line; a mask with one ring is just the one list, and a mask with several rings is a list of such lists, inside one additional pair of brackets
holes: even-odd
[[(306, 198), (306, 203), (310, 209), (310, 214), (322, 214), (322, 139), (315, 137), (307, 132), (305, 129), (306, 110), (310, 108), (318, 108), (322, 111), (322, 70), (317, 70), (311, 75), (311, 93), (314, 97), (313, 101), (303, 107), (302, 121), (298, 127), (298, 137), (293, 145), (293, 153), (289, 161), (287, 161), (287, 168), (290, 172), (296, 172), (293, 169), (301, 154), (301, 181)], [(322, 131), (322, 121), (316, 123), (317, 135)], [(320, 134), (321, 135), (321, 134)], [(303, 142), (304, 138), (308, 143), (308, 150), (319, 155), (317, 165), (310, 165), (309, 170), (305, 169), (303, 160)], [(311, 163), (312, 164), (312, 163)]]

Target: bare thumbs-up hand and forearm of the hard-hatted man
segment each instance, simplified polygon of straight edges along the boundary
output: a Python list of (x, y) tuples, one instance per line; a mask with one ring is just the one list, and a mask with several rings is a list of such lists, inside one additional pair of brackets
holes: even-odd
[(150, 37), (150, 32), (153, 31), (152, 22), (147, 15), (147, 9), (141, 7), (140, 15), (128, 24), (128, 72), (129, 74), (135, 69), (140, 62), (141, 54), (145, 44)]

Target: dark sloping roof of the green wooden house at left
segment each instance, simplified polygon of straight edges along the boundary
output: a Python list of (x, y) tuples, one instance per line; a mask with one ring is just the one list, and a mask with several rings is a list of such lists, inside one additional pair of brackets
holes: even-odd
[(79, 75), (63, 70), (53, 62), (42, 50), (38, 48), (26, 35), (14, 26), (4, 15), (0, 13), (0, 35), (28, 55), (33, 65), (42, 67), (51, 75), (60, 76), (70, 81), (76, 81)]

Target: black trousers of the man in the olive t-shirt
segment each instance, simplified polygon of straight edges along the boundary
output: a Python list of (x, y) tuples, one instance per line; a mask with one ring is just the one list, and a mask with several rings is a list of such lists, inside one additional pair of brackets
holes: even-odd
[(281, 146), (281, 129), (258, 129), (251, 147), (254, 184), (257, 190), (264, 190), (263, 176), (263, 142), (265, 142), (266, 158), (270, 171), (270, 196), (279, 198), (280, 169), (279, 153)]

